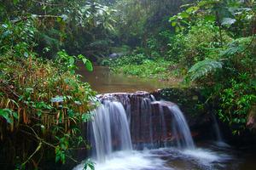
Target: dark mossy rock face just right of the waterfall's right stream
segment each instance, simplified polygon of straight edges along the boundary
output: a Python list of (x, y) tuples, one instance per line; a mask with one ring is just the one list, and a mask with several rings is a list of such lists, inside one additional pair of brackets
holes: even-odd
[(157, 100), (172, 101), (179, 106), (195, 139), (215, 138), (212, 106), (205, 105), (200, 88), (164, 88), (152, 94)]

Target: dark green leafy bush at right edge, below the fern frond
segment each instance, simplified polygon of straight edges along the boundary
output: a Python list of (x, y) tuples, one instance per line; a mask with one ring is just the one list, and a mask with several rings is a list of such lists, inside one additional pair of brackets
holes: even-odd
[[(238, 80), (231, 79), (230, 87), (220, 94), (219, 118), (230, 124), (233, 133), (245, 130), (247, 114), (256, 103), (256, 89), (252, 77), (241, 74)], [(238, 82), (239, 81), (239, 82)]]

